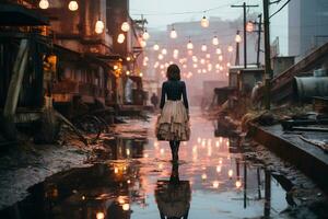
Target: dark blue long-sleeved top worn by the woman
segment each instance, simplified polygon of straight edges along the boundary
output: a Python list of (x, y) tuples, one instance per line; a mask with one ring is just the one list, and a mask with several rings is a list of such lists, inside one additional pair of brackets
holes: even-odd
[(162, 96), (161, 96), (161, 104), (160, 107), (163, 108), (165, 104), (165, 94), (166, 99), (169, 101), (178, 101), (184, 97), (184, 105), (188, 110), (188, 99), (187, 99), (187, 91), (186, 84), (184, 81), (164, 81), (162, 84)]

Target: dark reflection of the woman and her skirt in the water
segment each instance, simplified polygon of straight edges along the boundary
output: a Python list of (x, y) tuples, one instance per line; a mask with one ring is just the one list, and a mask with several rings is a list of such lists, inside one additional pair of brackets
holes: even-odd
[(180, 181), (178, 164), (174, 163), (169, 181), (157, 181), (155, 199), (161, 219), (187, 219), (191, 189), (189, 181)]

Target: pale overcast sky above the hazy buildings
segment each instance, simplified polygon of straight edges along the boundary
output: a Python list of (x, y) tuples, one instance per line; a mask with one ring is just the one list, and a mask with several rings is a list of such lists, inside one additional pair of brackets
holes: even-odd
[[(144, 14), (149, 22), (147, 25), (149, 30), (165, 30), (167, 24), (200, 21), (203, 14), (220, 16), (223, 20), (234, 20), (243, 15), (243, 9), (231, 8), (231, 4), (242, 4), (244, 1), (247, 4), (259, 4), (258, 8), (250, 8), (248, 13), (262, 12), (262, 0), (130, 0), (130, 14), (133, 19), (140, 19), (140, 14)], [(271, 13), (285, 1), (282, 0), (278, 5), (272, 4)], [(209, 9), (213, 10), (203, 13)], [(286, 54), (288, 47), (286, 25), (288, 7), (271, 19), (271, 39), (279, 36), (282, 54)]]

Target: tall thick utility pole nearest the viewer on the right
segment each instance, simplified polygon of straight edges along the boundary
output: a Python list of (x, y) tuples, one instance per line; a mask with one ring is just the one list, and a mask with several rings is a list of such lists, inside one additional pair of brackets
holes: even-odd
[(271, 79), (272, 79), (272, 70), (271, 70), (271, 60), (270, 60), (270, 21), (269, 21), (269, 0), (263, 0), (263, 19), (265, 19), (265, 105), (266, 110), (270, 110), (270, 90), (271, 90)]

